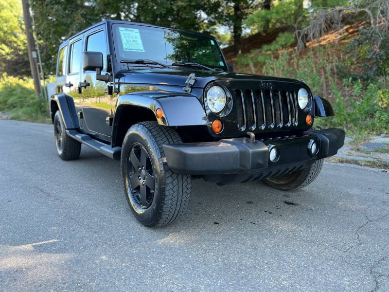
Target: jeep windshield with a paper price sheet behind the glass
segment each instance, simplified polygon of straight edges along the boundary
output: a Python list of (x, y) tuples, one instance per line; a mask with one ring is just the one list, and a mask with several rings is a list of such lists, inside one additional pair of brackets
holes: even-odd
[(213, 37), (131, 24), (114, 24), (112, 33), (118, 62), (148, 59), (166, 65), (198, 63), (227, 70)]

